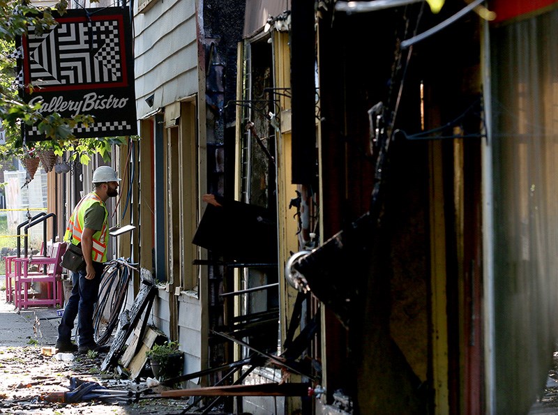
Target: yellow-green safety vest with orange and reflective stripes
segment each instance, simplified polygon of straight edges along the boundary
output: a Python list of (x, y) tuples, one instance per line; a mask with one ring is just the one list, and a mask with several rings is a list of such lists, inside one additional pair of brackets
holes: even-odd
[(89, 193), (80, 203), (75, 206), (72, 216), (68, 221), (68, 227), (66, 227), (66, 233), (64, 234), (64, 241), (73, 243), (77, 245), (82, 241), (83, 225), (85, 222), (85, 212), (93, 204), (98, 203), (105, 209), (105, 220), (103, 220), (103, 229), (97, 231), (93, 234), (93, 248), (91, 249), (91, 259), (96, 262), (106, 262), (107, 261), (107, 239), (109, 233), (107, 218), (109, 213), (107, 211), (107, 206), (103, 200), (98, 197), (95, 192)]

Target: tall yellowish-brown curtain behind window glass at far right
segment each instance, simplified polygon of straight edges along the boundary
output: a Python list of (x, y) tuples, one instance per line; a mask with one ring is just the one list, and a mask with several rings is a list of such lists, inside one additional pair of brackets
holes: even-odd
[(497, 414), (543, 393), (557, 339), (558, 10), (493, 29)]

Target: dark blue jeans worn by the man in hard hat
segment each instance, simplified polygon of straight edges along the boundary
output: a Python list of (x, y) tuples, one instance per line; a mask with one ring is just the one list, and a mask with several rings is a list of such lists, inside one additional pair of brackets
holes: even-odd
[(85, 278), (86, 271), (72, 274), (72, 294), (64, 308), (64, 314), (58, 326), (58, 340), (70, 342), (74, 328), (75, 317), (77, 317), (77, 332), (80, 335), (80, 346), (92, 346), (95, 344), (93, 338), (93, 311), (99, 296), (100, 280), (103, 276), (104, 265), (93, 262), (95, 278)]

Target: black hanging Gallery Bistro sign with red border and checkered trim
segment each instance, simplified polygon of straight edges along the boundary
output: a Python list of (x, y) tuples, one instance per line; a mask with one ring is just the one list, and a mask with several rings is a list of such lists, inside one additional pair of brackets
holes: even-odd
[[(40, 104), (43, 115), (93, 116), (94, 123), (73, 129), (77, 138), (137, 134), (129, 13), (71, 9), (50, 31), (30, 27), (21, 40), (24, 101)], [(24, 135), (44, 139), (36, 127), (25, 126)]]

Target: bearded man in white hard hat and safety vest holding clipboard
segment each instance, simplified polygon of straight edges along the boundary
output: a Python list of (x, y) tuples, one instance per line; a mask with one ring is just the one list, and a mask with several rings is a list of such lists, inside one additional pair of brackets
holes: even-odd
[[(81, 246), (86, 266), (72, 275), (72, 294), (58, 326), (56, 348), (59, 352), (99, 350), (93, 338), (93, 308), (98, 298), (103, 263), (107, 261), (108, 212), (105, 202), (118, 195), (120, 180), (112, 167), (98, 167), (93, 172), (95, 190), (80, 200), (70, 216), (64, 241)], [(75, 317), (79, 347), (70, 340)]]

